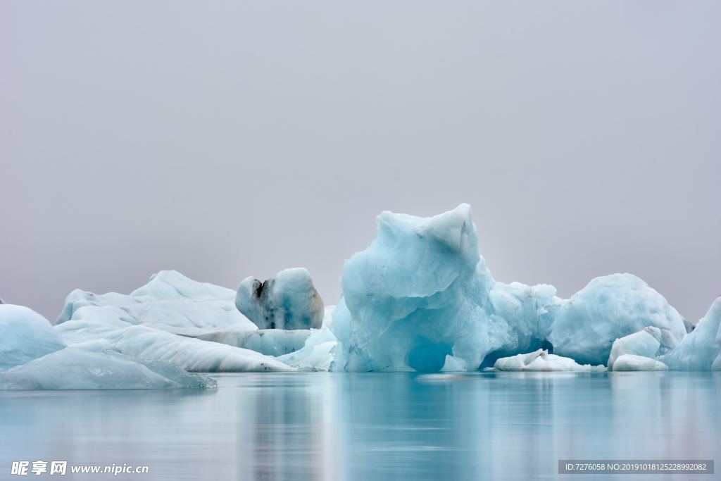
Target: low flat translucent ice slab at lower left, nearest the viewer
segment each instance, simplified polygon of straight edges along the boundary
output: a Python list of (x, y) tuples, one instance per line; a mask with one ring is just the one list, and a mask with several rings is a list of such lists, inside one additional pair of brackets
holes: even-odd
[(216, 387), (170, 363), (69, 347), (0, 373), (0, 389), (167, 389)]

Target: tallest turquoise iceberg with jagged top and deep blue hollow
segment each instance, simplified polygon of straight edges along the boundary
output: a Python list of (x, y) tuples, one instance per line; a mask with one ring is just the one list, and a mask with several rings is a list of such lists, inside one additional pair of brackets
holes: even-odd
[(489, 354), (541, 346), (560, 305), (555, 289), (495, 283), (467, 204), (431, 218), (384, 212), (377, 222), (371, 246), (343, 268), (332, 369), (476, 370)]

